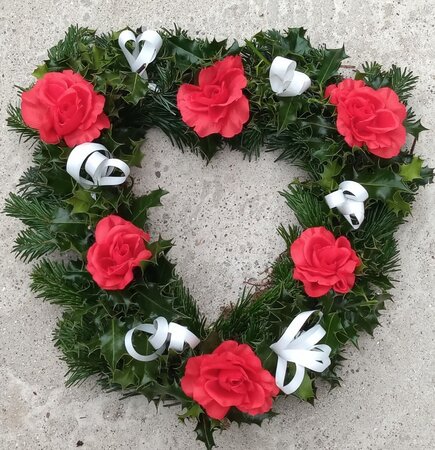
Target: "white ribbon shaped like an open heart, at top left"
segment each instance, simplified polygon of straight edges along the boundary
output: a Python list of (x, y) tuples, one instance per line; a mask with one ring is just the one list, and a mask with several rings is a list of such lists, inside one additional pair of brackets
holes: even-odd
[[(134, 42), (133, 53), (126, 47), (129, 41)], [(138, 72), (142, 78), (147, 80), (146, 68), (156, 59), (157, 53), (163, 44), (159, 33), (154, 30), (146, 30), (136, 37), (132, 31), (124, 30), (119, 35), (118, 44), (131, 70)]]

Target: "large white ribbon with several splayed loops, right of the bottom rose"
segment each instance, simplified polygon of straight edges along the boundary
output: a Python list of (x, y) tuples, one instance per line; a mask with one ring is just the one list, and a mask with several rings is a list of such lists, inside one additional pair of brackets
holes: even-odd
[[(284, 331), (280, 340), (270, 346), (278, 355), (275, 373), (276, 385), (287, 395), (295, 392), (302, 384), (305, 368), (323, 372), (331, 364), (329, 359), (331, 347), (318, 344), (326, 334), (325, 329), (317, 324), (307, 331), (300, 331), (308, 317), (314, 312), (316, 311), (305, 311), (298, 314)], [(296, 364), (296, 372), (292, 380), (284, 385), (289, 362)]]

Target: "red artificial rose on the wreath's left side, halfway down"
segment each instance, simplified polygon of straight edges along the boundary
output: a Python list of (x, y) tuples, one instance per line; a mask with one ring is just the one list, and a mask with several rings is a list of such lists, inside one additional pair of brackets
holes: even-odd
[(121, 217), (101, 219), (95, 230), (95, 244), (88, 250), (86, 268), (102, 289), (124, 289), (133, 280), (133, 269), (150, 259), (145, 247), (150, 236)]

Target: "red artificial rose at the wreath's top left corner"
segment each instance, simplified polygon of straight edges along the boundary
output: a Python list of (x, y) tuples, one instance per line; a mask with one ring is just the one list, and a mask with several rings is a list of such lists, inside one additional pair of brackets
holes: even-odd
[(23, 92), (21, 113), (26, 125), (39, 131), (41, 140), (68, 147), (92, 142), (109, 128), (103, 113), (105, 98), (72, 70), (49, 72)]

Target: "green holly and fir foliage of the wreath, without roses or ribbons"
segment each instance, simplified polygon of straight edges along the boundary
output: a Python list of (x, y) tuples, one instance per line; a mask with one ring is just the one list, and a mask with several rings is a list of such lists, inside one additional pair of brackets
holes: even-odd
[[(94, 239), (92, 230), (100, 219), (116, 213), (143, 228), (149, 209), (161, 205), (166, 191), (158, 189), (138, 197), (132, 179), (117, 187), (81, 188), (65, 171), (68, 147), (42, 142), (23, 122), (20, 107), (9, 106), (8, 125), (33, 145), (33, 166), (22, 175), (18, 194), (11, 193), (5, 206), (7, 215), (19, 218), (27, 227), (18, 234), (13, 251), (26, 262), (39, 259), (31, 275), (32, 291), (64, 309), (54, 341), (68, 366), (67, 385), (96, 376), (103, 389), (120, 389), (124, 396), (143, 394), (156, 404), (176, 401), (183, 408), (179, 418), (197, 421), (197, 438), (212, 448), (213, 432), (227, 428), (228, 422), (260, 425), (275, 413), (249, 416), (232, 408), (222, 421), (209, 418), (179, 385), (190, 356), (210, 353), (220, 342), (235, 339), (248, 343), (263, 366), (273, 371), (276, 357), (270, 344), (300, 312), (319, 309), (327, 330), (322, 342), (332, 349), (332, 364), (321, 374), (307, 371), (294, 393), (313, 402), (316, 376), (331, 387), (339, 385), (337, 370), (345, 345), (357, 345), (360, 333), (371, 334), (379, 325), (399, 265), (394, 233), (410, 214), (419, 188), (433, 181), (433, 169), (414, 155), (418, 137), (425, 130), (408, 106), (417, 78), (407, 69), (393, 66), (384, 70), (377, 63), (365, 63), (362, 70), (355, 71), (355, 79), (374, 89), (390, 87), (407, 105), (404, 124), (413, 141), (397, 157), (384, 160), (345, 143), (335, 127), (335, 108), (324, 98), (325, 87), (342, 79), (339, 69), (347, 58), (344, 48), (315, 48), (302, 28), (260, 32), (243, 46), (236, 41), (229, 46), (227, 40), (190, 38), (177, 27), (163, 29), (161, 52), (147, 70), (150, 80), (159, 86), (155, 92), (131, 72), (118, 46), (119, 33), (97, 35), (72, 26), (33, 73), (40, 78), (47, 72), (72, 69), (104, 94), (112, 127), (97, 142), (114, 156), (140, 167), (146, 131), (158, 127), (172, 144), (207, 161), (224, 146), (242, 151), (249, 160), (266, 148), (279, 152), (278, 160), (297, 164), (308, 175), (307, 180), (295, 180), (281, 192), (299, 225), (279, 226), (286, 250), (273, 262), (267, 284), (244, 291), (235, 305), (209, 325), (167, 257), (171, 240), (159, 237), (149, 245), (153, 258), (122, 291), (101, 290), (85, 270), (86, 251)], [(235, 54), (242, 56), (249, 80), (245, 91), (250, 120), (234, 138), (199, 138), (181, 120), (177, 89), (182, 83), (194, 82), (201, 68)], [(268, 80), (275, 56), (295, 60), (311, 78), (311, 89), (298, 97), (277, 98)], [(20, 94), (24, 91), (20, 88)], [(361, 183), (370, 195), (365, 221), (355, 231), (324, 202), (324, 196), (347, 179)], [(349, 294), (330, 291), (320, 300), (313, 299), (292, 278), (294, 264), (288, 249), (302, 229), (317, 226), (325, 226), (335, 236), (347, 236), (363, 261)], [(48, 259), (58, 252), (75, 258)], [(200, 338), (200, 345), (181, 354), (169, 351), (146, 364), (130, 358), (124, 348), (125, 332), (161, 315), (187, 326)], [(144, 343), (138, 348), (148, 352)]]

